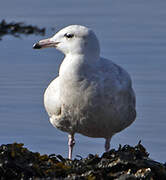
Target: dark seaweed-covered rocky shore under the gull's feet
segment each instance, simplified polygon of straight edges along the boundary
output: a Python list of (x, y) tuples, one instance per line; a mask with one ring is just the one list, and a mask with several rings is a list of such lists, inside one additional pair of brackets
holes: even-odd
[(165, 180), (166, 164), (150, 159), (139, 142), (112, 149), (101, 157), (89, 154), (74, 160), (61, 155), (40, 155), (23, 144), (0, 146), (0, 177), (7, 179), (87, 179), (87, 180)]

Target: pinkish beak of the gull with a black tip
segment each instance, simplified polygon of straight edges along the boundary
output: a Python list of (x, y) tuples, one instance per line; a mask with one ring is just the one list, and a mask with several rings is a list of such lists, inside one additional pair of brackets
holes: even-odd
[(55, 41), (51, 40), (51, 38), (43, 39), (43, 40), (39, 41), (38, 43), (35, 43), (33, 45), (33, 49), (42, 49), (42, 48), (48, 48), (48, 47), (56, 47), (57, 44), (59, 44), (59, 42), (55, 42)]

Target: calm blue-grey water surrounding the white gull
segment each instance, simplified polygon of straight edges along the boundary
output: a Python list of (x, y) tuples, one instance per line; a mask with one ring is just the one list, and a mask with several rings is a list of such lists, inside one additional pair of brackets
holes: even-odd
[[(139, 140), (150, 157), (166, 161), (166, 2), (155, 0), (6, 0), (0, 17), (47, 27), (49, 37), (69, 24), (91, 27), (101, 54), (132, 76), (137, 120), (115, 135), (111, 147)], [(67, 156), (67, 134), (48, 121), (43, 92), (57, 75), (63, 55), (55, 49), (33, 50), (40, 36), (5, 36), (0, 41), (0, 143), (23, 142), (32, 151)], [(74, 156), (102, 154), (104, 140), (76, 135)]]

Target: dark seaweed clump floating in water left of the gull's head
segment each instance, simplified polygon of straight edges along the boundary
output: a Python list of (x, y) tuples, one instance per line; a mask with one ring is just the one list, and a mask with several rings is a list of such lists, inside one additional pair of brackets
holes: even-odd
[(30, 35), (45, 35), (45, 28), (38, 28), (37, 26), (25, 25), (22, 22), (7, 23), (4, 19), (0, 22), (0, 40), (4, 35), (13, 35), (20, 37), (20, 34)]

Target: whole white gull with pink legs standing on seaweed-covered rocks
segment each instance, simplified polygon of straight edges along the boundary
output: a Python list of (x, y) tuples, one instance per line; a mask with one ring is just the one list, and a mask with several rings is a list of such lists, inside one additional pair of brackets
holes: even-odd
[(59, 76), (45, 91), (44, 105), (51, 124), (69, 133), (68, 158), (72, 158), (75, 133), (105, 138), (108, 151), (111, 137), (136, 118), (129, 74), (100, 57), (98, 39), (85, 26), (70, 25), (33, 46), (47, 47), (65, 54)]

